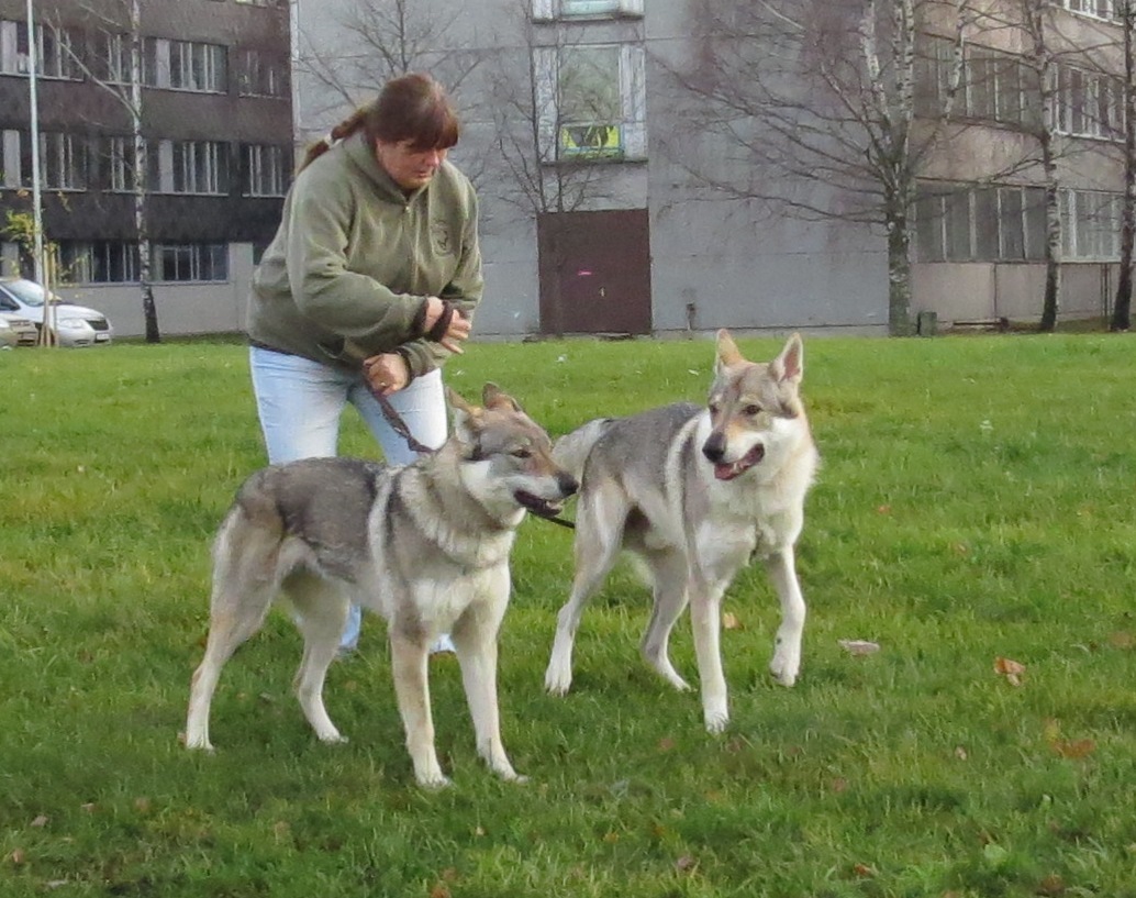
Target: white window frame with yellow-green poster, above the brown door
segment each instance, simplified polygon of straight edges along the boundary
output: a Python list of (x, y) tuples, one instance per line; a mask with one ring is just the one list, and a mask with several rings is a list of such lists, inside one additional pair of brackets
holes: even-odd
[[(642, 160), (646, 158), (646, 52), (642, 44), (582, 44), (582, 47), (619, 48), (619, 97), (621, 115), (615, 122), (579, 123), (593, 127), (616, 127), (619, 130), (621, 152), (612, 153), (601, 149), (591, 158), (600, 160)], [(562, 128), (567, 123), (560, 118), (560, 68), (566, 53), (573, 47), (536, 47), (533, 63), (536, 72), (536, 114), (538, 119), (538, 152), (545, 163), (585, 161), (587, 153), (566, 153)]]

